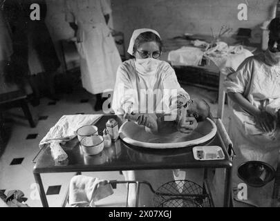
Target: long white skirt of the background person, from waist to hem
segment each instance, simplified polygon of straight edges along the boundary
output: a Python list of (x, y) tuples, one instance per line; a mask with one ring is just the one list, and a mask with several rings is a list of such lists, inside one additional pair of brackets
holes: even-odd
[(78, 24), (81, 43), (77, 50), (81, 56), (83, 87), (92, 94), (113, 90), (118, 66), (122, 63), (115, 41), (105, 24)]

